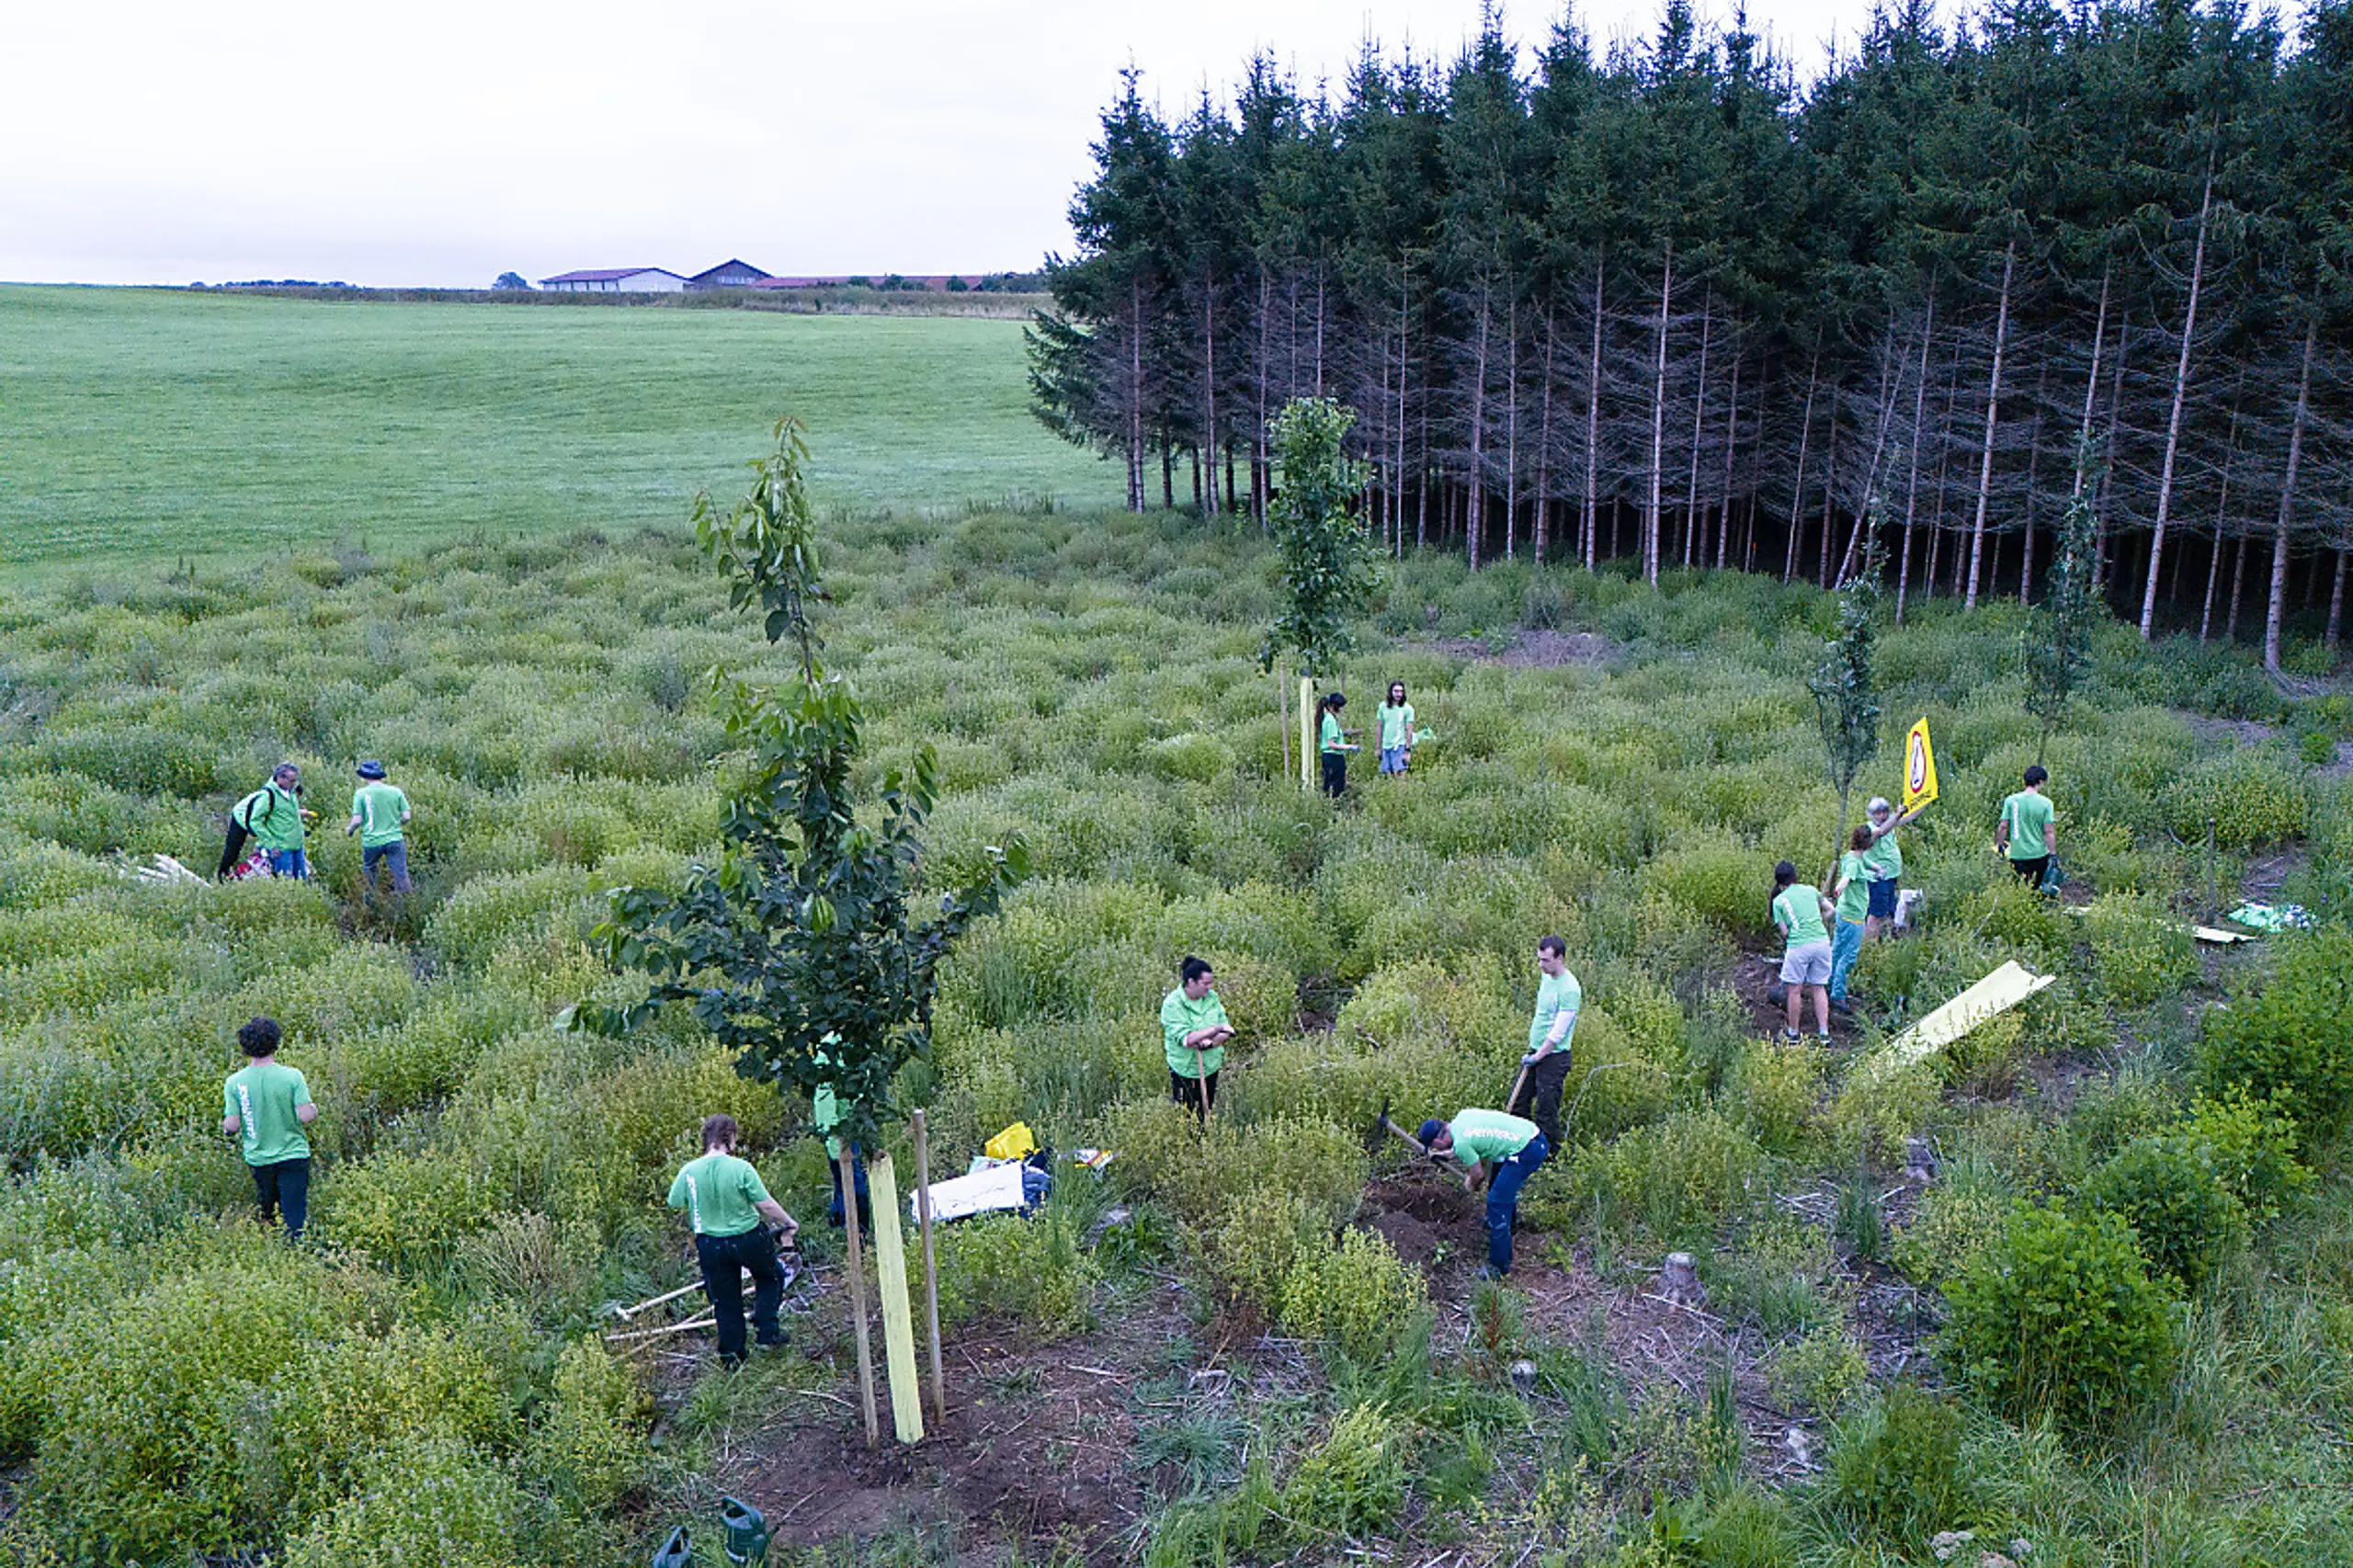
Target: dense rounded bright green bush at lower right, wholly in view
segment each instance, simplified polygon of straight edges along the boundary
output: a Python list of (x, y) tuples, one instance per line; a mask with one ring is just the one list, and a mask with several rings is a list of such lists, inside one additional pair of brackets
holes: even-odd
[(1946, 1285), (1944, 1354), (2005, 1415), (2106, 1427), (2167, 1375), (2172, 1304), (2115, 1215), (2012, 1212)]

